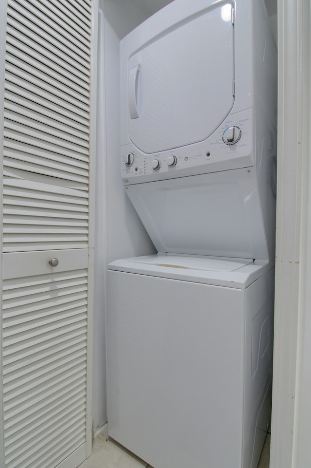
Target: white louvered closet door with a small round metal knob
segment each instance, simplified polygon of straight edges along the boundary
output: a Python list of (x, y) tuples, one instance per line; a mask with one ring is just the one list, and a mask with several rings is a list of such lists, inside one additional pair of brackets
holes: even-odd
[(5, 468), (75, 468), (90, 453), (96, 27), (97, 0), (7, 0)]

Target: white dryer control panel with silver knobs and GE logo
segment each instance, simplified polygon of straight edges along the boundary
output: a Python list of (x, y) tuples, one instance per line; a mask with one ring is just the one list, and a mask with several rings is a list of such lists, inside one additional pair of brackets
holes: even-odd
[(186, 177), (255, 165), (253, 109), (229, 115), (206, 140), (146, 154), (132, 144), (121, 147), (125, 185)]

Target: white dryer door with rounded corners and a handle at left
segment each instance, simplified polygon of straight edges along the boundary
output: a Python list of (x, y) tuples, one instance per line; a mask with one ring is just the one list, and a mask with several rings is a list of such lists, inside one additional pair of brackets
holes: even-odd
[(130, 57), (128, 130), (139, 150), (150, 154), (205, 140), (230, 112), (232, 8), (209, 6)]

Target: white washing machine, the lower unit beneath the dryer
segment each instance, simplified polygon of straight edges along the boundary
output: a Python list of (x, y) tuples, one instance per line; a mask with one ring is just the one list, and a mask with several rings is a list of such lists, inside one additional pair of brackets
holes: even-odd
[(155, 468), (257, 468), (274, 269), (172, 255), (110, 268), (109, 436)]

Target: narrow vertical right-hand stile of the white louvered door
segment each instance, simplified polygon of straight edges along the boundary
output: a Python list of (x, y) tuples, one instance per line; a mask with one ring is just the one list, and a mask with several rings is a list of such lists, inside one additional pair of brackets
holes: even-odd
[(89, 258), (87, 300), (86, 358), (86, 458), (92, 453), (92, 379), (93, 379), (93, 307), (94, 307), (94, 244), (95, 244), (95, 180), (96, 180), (96, 90), (97, 90), (98, 0), (93, 0), (91, 77), (90, 77), (90, 144), (89, 144)]

